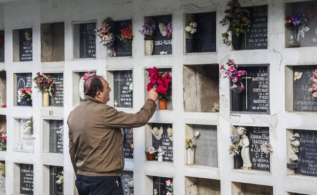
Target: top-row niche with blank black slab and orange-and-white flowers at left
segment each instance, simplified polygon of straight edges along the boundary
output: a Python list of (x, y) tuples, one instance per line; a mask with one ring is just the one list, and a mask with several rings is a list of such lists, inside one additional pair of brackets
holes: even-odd
[[(184, 14), (184, 18), (187, 14)], [(192, 13), (194, 21), (197, 23), (197, 31), (192, 34), (194, 38), (193, 52), (216, 52), (216, 12)], [(184, 26), (186, 25), (184, 21)], [(189, 38), (188, 32), (185, 32), (184, 50), (186, 49), (186, 38)]]

